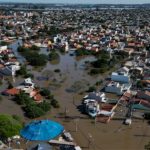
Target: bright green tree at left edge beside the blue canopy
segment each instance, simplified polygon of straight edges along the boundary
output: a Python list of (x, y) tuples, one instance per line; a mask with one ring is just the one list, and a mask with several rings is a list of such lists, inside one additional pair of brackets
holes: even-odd
[(0, 137), (2, 139), (19, 135), (22, 126), (23, 124), (19, 117), (4, 114), (0, 115)]

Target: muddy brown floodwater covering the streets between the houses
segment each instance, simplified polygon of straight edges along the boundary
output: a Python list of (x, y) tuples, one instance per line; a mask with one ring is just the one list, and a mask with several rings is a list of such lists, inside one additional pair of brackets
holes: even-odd
[[(41, 53), (47, 54), (45, 49), (42, 49)], [(19, 58), (21, 57), (19, 56)], [(75, 56), (67, 53), (60, 54), (59, 61), (48, 62), (45, 67), (28, 66), (35, 76), (34, 82), (40, 87), (51, 89), (61, 106), (59, 109), (52, 109), (41, 119), (47, 118), (60, 122), (73, 135), (77, 144), (85, 150), (143, 150), (144, 145), (150, 139), (150, 126), (146, 121), (133, 120), (131, 126), (123, 125), (123, 120), (111, 120), (108, 124), (95, 124), (93, 119), (79, 111), (82, 97), (86, 94), (85, 91), (88, 87), (105, 78), (102, 75), (88, 75), (89, 70), (86, 69), (85, 62), (94, 60), (93, 56), (76, 60)], [(55, 69), (60, 69), (61, 72), (56, 73)], [(49, 77), (49, 80), (39, 81), (37, 80), (38, 76)], [(21, 83), (21, 79), (16, 78), (14, 84), (19, 83)], [(68, 90), (73, 85), (77, 86), (76, 92)], [(1, 90), (5, 87), (6, 85), (1, 87)], [(20, 106), (7, 97), (0, 104), (1, 113), (24, 116)], [(64, 117), (64, 112), (66, 112), (67, 118)]]

